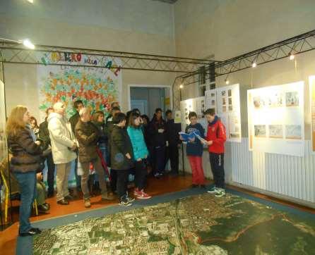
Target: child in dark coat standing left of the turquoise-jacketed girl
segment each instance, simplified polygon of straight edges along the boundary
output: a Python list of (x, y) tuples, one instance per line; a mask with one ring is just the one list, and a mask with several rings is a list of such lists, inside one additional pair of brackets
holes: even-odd
[(117, 194), (119, 205), (131, 206), (133, 198), (128, 196), (127, 184), (129, 169), (132, 167), (132, 147), (126, 131), (126, 115), (117, 113), (113, 117), (114, 126), (110, 134), (110, 162), (117, 173)]

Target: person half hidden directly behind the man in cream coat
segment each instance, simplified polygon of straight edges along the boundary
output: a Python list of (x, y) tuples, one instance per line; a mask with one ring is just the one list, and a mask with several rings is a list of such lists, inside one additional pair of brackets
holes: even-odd
[[(40, 134), (39, 138), (44, 142), (47, 146), (52, 146), (50, 143), (49, 130), (48, 130), (48, 121), (47, 118), (50, 113), (53, 113), (54, 109), (52, 107), (47, 108), (46, 110), (46, 118), (43, 123), (40, 123)], [(54, 160), (52, 159), (52, 153), (47, 154), (46, 156), (47, 162), (47, 182), (48, 182), (48, 194), (47, 197), (54, 196)]]

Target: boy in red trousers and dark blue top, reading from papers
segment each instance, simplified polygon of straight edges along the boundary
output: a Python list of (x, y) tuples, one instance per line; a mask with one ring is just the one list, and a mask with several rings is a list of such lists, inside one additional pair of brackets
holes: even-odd
[[(191, 111), (188, 115), (190, 125), (186, 127), (185, 132), (190, 134), (191, 132), (200, 132), (200, 136), (204, 138), (205, 130), (203, 129), (200, 123), (197, 123), (197, 114), (194, 111)], [(180, 139), (183, 140), (181, 136)], [(203, 154), (203, 144), (201, 141), (194, 137), (189, 138), (189, 142), (186, 146), (186, 155), (188, 156), (189, 163), (191, 166), (191, 172), (193, 175), (193, 184), (192, 187), (205, 188), (205, 177), (203, 175), (203, 166), (202, 166), (202, 154)]]

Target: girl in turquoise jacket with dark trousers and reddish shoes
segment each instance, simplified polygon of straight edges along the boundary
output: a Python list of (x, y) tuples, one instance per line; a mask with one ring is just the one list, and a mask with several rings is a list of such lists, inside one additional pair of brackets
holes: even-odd
[(134, 195), (138, 199), (150, 199), (151, 197), (146, 194), (143, 189), (145, 186), (145, 179), (147, 170), (145, 166), (146, 158), (148, 157), (148, 148), (145, 145), (143, 131), (141, 129), (140, 114), (133, 112), (129, 118), (129, 125), (127, 128), (128, 135), (131, 139), (133, 149), (133, 161), (135, 161), (136, 174)]

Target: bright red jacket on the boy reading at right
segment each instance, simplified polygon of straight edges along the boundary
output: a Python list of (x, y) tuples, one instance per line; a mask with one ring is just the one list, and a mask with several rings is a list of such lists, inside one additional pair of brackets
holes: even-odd
[(207, 141), (213, 141), (213, 144), (208, 146), (209, 152), (222, 154), (224, 153), (224, 144), (227, 139), (225, 132), (225, 126), (222, 122), (215, 116), (215, 120), (208, 125)]

